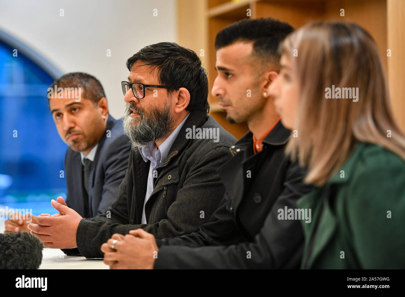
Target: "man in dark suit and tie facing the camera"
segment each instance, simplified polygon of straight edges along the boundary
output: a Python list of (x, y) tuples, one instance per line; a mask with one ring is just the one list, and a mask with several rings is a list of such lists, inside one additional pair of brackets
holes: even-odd
[[(48, 99), (58, 133), (69, 145), (64, 162), (66, 203), (82, 217), (95, 217), (111, 207), (118, 193), (130, 140), (122, 122), (109, 115), (103, 87), (94, 76), (65, 74), (48, 88)], [(30, 232), (28, 223), (15, 217), (6, 221), (6, 232)]]

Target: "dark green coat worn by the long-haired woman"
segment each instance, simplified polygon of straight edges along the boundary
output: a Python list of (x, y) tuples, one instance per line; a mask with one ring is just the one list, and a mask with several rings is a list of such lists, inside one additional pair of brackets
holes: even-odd
[(297, 204), (311, 209), (312, 217), (310, 223), (302, 221), (301, 268), (405, 268), (405, 161), (400, 156), (360, 143), (335, 175)]

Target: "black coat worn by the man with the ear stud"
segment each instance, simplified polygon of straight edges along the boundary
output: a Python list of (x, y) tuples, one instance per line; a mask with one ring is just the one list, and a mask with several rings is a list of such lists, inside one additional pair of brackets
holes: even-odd
[(306, 172), (283, 151), (290, 131), (279, 122), (253, 153), (248, 132), (219, 170), (226, 193), (198, 232), (156, 240), (155, 268), (299, 268), (303, 230), (299, 220), (279, 220), (278, 210), (296, 209), (313, 187)]

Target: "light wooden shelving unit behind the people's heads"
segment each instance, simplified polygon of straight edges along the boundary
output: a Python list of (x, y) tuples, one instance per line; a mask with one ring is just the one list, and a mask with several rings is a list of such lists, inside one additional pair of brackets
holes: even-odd
[[(405, 1), (404, 0), (177, 0), (179, 44), (201, 57), (208, 73), (209, 88), (216, 76), (215, 36), (222, 28), (245, 18), (273, 17), (298, 28), (315, 20), (351, 21), (375, 39), (390, 83), (395, 116), (405, 131)], [(345, 16), (340, 16), (340, 10)], [(248, 15), (250, 13), (250, 15)], [(392, 57), (387, 57), (387, 49)], [(238, 139), (247, 132), (246, 124), (229, 124), (209, 95), (210, 115)]]

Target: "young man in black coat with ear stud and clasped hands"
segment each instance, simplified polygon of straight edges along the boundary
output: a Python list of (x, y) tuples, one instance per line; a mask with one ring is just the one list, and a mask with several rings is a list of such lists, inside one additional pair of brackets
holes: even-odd
[(292, 31), (267, 18), (239, 21), (217, 34), (211, 94), (229, 122), (247, 122), (250, 130), (218, 169), (224, 198), (192, 234), (163, 240), (144, 230), (114, 234), (101, 247), (110, 268), (299, 268), (301, 222), (280, 213), (297, 209), (298, 198), (313, 187), (303, 182), (305, 169), (284, 155), (291, 132), (268, 91), (279, 72), (278, 44)]

